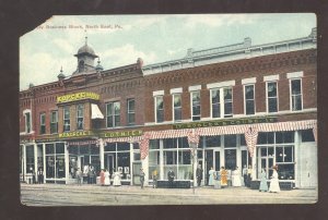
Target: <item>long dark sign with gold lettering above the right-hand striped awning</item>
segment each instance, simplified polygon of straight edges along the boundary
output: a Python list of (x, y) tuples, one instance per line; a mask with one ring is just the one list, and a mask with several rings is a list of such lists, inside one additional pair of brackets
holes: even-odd
[(273, 123), (273, 122), (277, 122), (277, 117), (256, 117), (256, 118), (239, 118), (239, 119), (229, 119), (229, 120), (214, 120), (214, 121), (173, 124), (173, 129), (183, 130), (183, 129), (197, 129), (197, 127), (208, 127), (208, 126), (229, 126), (229, 125)]

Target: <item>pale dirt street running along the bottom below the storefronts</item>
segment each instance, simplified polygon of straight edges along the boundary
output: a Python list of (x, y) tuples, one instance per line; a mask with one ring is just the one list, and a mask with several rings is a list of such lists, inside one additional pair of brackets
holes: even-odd
[(139, 186), (21, 184), (26, 206), (140, 206), (225, 204), (314, 204), (316, 190), (263, 193), (246, 187), (152, 188)]

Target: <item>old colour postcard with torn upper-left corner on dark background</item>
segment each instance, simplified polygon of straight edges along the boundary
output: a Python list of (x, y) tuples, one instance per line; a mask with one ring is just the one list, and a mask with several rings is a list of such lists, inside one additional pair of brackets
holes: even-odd
[(316, 100), (314, 13), (52, 16), (20, 38), (21, 203), (314, 204)]

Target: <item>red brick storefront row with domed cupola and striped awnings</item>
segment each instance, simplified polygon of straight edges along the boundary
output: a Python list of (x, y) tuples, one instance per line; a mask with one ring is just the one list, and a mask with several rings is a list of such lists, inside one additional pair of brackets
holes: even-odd
[(167, 180), (208, 184), (211, 167), (251, 166), (281, 183), (317, 187), (316, 28), (297, 39), (243, 42), (185, 58), (103, 70), (85, 45), (77, 71), (20, 93), (21, 179), (39, 168), (46, 183), (74, 183), (93, 164), (122, 184)]

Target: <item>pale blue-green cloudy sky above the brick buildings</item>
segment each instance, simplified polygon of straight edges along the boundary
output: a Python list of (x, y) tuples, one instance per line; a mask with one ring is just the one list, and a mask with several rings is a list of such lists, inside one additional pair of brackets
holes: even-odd
[(188, 48), (222, 47), (246, 37), (251, 45), (305, 37), (316, 25), (313, 13), (55, 15), (20, 38), (20, 90), (57, 81), (61, 68), (71, 75), (85, 37), (109, 70), (138, 58), (144, 65), (179, 59)]

